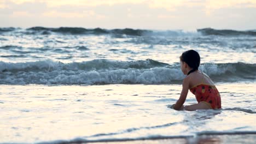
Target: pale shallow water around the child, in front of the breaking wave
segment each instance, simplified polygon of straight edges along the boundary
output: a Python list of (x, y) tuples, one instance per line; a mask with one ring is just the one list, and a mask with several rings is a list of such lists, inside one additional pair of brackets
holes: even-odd
[[(2, 85), (1, 142), (256, 133), (255, 83), (217, 87), (222, 110), (189, 112), (168, 108), (178, 99), (181, 85)], [(193, 103), (189, 93), (185, 105)]]

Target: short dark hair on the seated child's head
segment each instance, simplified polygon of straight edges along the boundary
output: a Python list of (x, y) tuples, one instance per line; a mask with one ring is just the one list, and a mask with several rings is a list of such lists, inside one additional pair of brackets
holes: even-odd
[[(189, 67), (193, 69), (193, 71), (197, 70), (200, 65), (200, 56), (195, 50), (183, 52), (179, 59), (181, 59), (182, 62), (187, 63)], [(193, 71), (191, 71), (191, 73)]]

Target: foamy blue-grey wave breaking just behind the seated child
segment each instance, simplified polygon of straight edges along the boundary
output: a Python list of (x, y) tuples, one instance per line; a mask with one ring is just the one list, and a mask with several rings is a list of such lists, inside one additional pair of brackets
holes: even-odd
[[(202, 64), (200, 69), (216, 81), (255, 80), (256, 64)], [(146, 61), (109, 61), (61, 63), (51, 60), (6, 63), (0, 62), (0, 83), (26, 85), (104, 85), (104, 84), (168, 84), (184, 79), (179, 65)]]

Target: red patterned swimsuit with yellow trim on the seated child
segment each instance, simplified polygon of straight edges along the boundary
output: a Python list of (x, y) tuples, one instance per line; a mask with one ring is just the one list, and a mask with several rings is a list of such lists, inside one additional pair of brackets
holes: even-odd
[(198, 103), (203, 102), (212, 109), (222, 108), (220, 95), (218, 89), (212, 85), (199, 84), (189, 89), (191, 93), (195, 94)]

